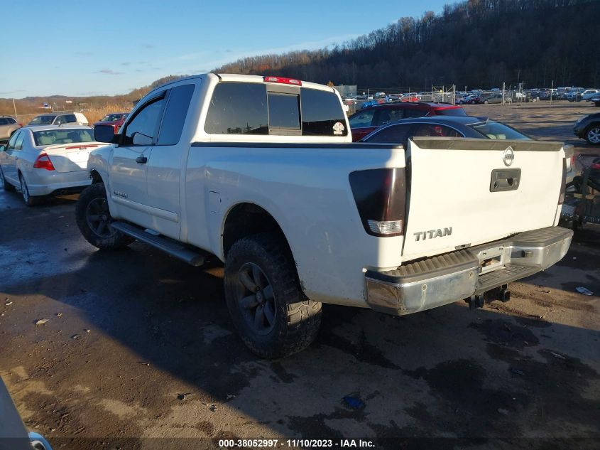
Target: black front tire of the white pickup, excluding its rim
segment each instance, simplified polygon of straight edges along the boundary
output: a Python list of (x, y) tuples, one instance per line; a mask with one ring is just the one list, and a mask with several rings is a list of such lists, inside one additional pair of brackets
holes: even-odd
[[(94, 247), (98, 247), (100, 250), (116, 250), (131, 244), (131, 242), (134, 241), (133, 237), (130, 237), (123, 232), (109, 228), (110, 235), (101, 236), (92, 230), (87, 220), (88, 206), (92, 201), (99, 199), (107, 200), (107, 191), (104, 188), (104, 183), (94, 183), (87, 186), (80, 194), (77, 204), (75, 205), (75, 220), (77, 222), (77, 227), (79, 227), (85, 240), (94, 245)], [(108, 213), (108, 220), (111, 220), (110, 213)]]

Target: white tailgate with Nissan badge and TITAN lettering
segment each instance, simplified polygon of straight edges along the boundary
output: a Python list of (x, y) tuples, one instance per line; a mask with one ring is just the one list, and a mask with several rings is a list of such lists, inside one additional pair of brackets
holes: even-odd
[(563, 158), (558, 142), (411, 139), (403, 259), (554, 225)]

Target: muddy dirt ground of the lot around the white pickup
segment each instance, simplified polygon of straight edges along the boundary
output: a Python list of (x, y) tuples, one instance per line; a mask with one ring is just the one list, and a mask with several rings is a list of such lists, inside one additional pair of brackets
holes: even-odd
[[(590, 149), (570, 135), (594, 112), (585, 105), (467, 109)], [(547, 272), (511, 284), (506, 304), (403, 318), (326, 306), (314, 345), (266, 361), (231, 327), (218, 262), (196, 269), (140, 243), (97, 251), (77, 230), (75, 198), (27, 208), (0, 191), (0, 375), (28, 429), (55, 449), (261, 436), (598, 448), (599, 226)]]

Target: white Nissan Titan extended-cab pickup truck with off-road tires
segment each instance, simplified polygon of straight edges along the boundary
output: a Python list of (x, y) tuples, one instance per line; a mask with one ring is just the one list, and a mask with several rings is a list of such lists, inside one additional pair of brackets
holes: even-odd
[(77, 224), (100, 249), (141, 240), (225, 264), (227, 306), (253, 352), (315, 338), (323, 303), (403, 315), (546, 269), (557, 227), (560, 143), (412, 137), (351, 143), (338, 93), (282, 77), (207, 74), (157, 87), (121, 133), (96, 127)]

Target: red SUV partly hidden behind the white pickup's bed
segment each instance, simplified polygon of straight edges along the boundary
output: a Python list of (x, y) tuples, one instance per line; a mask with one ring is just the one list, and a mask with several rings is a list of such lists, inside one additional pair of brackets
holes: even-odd
[(359, 141), (367, 134), (388, 122), (410, 117), (466, 116), (462, 107), (436, 102), (396, 102), (373, 105), (352, 114), (348, 119), (352, 141)]

